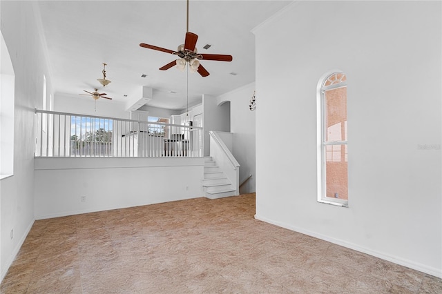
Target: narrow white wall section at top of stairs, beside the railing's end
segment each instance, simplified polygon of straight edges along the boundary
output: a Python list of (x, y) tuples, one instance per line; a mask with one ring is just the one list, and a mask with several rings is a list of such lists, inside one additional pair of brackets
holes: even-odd
[[(204, 156), (210, 155), (210, 130), (230, 132), (230, 104), (218, 106), (216, 97), (203, 95)], [(196, 113), (195, 113), (196, 114)]]

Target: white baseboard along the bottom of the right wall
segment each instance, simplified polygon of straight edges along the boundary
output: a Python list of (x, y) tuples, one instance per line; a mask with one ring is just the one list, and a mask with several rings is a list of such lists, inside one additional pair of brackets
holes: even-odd
[(308, 231), (308, 230), (305, 230), (303, 228), (299, 228), (298, 226), (291, 226), (289, 224), (285, 224), (285, 223), (281, 223), (281, 222), (276, 222), (276, 221), (273, 221), (272, 219), (268, 219), (267, 217), (261, 217), (260, 215), (255, 215), (255, 219), (258, 219), (258, 220), (260, 220), (262, 222), (267, 222), (269, 224), (273, 224), (275, 226), (280, 226), (282, 228), (287, 228), (290, 231), (295, 231), (295, 232), (298, 232), (298, 233), (302, 233), (304, 235), (309, 235), (311, 237), (315, 237), (315, 238), (318, 238), (318, 239), (323, 239), (324, 241), (327, 241), (327, 242), (330, 242), (330, 243), (333, 243), (333, 244), (337, 244), (337, 245), (340, 245), (340, 246), (343, 246), (343, 247), (346, 247), (346, 248), (350, 248), (350, 249), (359, 251), (361, 253), (372, 255), (374, 257), (378, 257), (378, 258), (387, 260), (388, 262), (393, 262), (395, 264), (399, 264), (401, 266), (406, 266), (407, 268), (412, 268), (412, 269), (414, 269), (416, 271), (421, 271), (422, 273), (427, 273), (429, 275), (433, 275), (434, 277), (442, 278), (442, 271), (441, 271), (441, 269), (438, 269), (438, 268), (433, 268), (431, 266), (426, 266), (425, 264), (419, 264), (417, 262), (413, 262), (413, 261), (411, 261), (409, 259), (404, 259), (402, 257), (396, 257), (396, 256), (393, 256), (393, 255), (387, 255), (385, 253), (381, 253), (381, 252), (378, 252), (378, 251), (373, 251), (373, 250), (371, 250), (369, 248), (365, 248), (365, 247), (359, 246), (357, 244), (349, 243), (349, 242), (346, 242), (346, 241), (341, 240), (341, 239), (335, 239), (335, 238), (332, 238), (332, 237), (329, 237), (329, 236), (326, 236), (326, 235), (322, 235), (322, 234), (318, 234), (318, 233), (315, 233), (315, 232), (312, 232), (312, 231)]

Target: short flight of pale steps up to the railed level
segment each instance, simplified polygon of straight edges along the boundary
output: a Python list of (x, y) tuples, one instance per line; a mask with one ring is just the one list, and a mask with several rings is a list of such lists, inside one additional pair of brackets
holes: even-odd
[(204, 178), (202, 188), (205, 197), (216, 199), (235, 195), (235, 187), (216, 165), (212, 157), (204, 157)]

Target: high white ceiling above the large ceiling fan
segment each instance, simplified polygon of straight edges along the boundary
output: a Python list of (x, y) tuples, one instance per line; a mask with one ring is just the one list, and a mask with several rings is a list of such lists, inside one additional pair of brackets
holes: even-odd
[[(209, 77), (189, 73), (189, 105), (202, 94), (220, 95), (255, 80), (255, 37), (251, 30), (291, 1), (189, 1), (189, 31), (199, 52), (232, 55), (233, 61), (201, 61)], [(177, 50), (186, 33), (186, 1), (38, 1), (55, 95), (78, 99), (83, 90), (106, 92), (124, 102), (153, 88), (148, 106), (186, 108), (186, 72), (158, 68), (175, 55), (140, 43)], [(202, 47), (211, 44), (209, 50)], [(103, 88), (102, 63), (107, 63)], [(231, 72), (236, 75), (231, 75)], [(146, 74), (147, 77), (141, 77)], [(172, 93), (175, 92), (175, 93)], [(128, 95), (128, 97), (124, 97)]]

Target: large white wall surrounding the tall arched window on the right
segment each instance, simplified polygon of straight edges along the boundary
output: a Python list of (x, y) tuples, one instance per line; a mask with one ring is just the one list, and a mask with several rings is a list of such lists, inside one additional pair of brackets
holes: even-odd
[[(442, 277), (441, 19), (440, 1), (302, 1), (256, 28), (258, 219)], [(316, 202), (316, 85), (335, 68), (349, 208)]]

